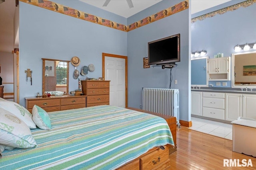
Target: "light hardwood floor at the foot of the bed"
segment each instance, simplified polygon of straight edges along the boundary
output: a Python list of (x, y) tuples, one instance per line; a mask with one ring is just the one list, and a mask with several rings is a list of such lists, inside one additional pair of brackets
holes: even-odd
[[(169, 156), (170, 170), (256, 169), (256, 158), (232, 151), (232, 141), (187, 127), (177, 128), (177, 151)], [(253, 167), (224, 167), (224, 159), (252, 160)]]

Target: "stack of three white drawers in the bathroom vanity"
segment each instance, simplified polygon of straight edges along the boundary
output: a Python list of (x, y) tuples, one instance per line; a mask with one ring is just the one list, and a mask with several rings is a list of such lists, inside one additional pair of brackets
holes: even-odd
[(203, 92), (202, 116), (225, 119), (225, 93)]

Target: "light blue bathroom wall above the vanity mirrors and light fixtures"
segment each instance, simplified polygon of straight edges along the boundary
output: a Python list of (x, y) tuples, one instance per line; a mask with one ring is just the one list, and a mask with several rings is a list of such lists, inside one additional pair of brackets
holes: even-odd
[[(218, 9), (242, 2), (241, 0), (232, 0)], [(216, 7), (204, 11), (204, 14), (218, 10)], [(194, 14), (192, 17), (200, 16)], [(237, 44), (253, 43), (256, 38), (256, 4), (246, 8), (240, 7), (237, 10), (226, 12), (222, 15), (217, 14), (212, 18), (206, 18), (202, 21), (196, 21), (191, 24), (191, 51), (207, 51), (209, 58), (214, 58), (214, 54), (224, 53), (224, 57), (232, 56), (235, 53), (234, 46)], [(231, 87), (231, 81), (228, 86), (216, 86), (216, 81), (209, 81), (214, 87)]]

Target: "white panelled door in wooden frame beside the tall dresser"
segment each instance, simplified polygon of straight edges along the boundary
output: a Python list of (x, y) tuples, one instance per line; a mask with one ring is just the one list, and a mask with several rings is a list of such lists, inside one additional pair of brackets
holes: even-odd
[(105, 57), (105, 80), (110, 80), (109, 105), (125, 107), (125, 59)]

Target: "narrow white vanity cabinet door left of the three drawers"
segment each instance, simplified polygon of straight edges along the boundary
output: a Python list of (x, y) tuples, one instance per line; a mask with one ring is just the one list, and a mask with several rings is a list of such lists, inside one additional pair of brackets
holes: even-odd
[(191, 114), (202, 116), (202, 92), (191, 92)]

